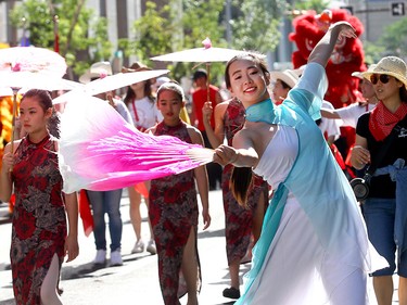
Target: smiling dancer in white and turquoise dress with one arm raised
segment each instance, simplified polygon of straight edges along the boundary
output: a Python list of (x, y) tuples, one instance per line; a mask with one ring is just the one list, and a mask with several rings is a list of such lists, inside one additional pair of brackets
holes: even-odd
[[(385, 264), (369, 245), (348, 181), (315, 124), (328, 85), (323, 67), (338, 39), (355, 37), (348, 23), (333, 24), (279, 106), (267, 91), (264, 59), (246, 53), (227, 64), (226, 84), (246, 109), (246, 122), (214, 161), (253, 168), (275, 190), (237, 304), (367, 304), (371, 256)], [(243, 201), (246, 188), (236, 178), (232, 189)]]

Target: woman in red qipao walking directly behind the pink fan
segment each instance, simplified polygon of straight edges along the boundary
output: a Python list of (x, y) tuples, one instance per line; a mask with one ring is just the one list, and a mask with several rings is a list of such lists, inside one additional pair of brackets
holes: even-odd
[[(181, 120), (179, 115), (183, 106), (182, 88), (175, 82), (162, 85), (157, 91), (157, 107), (164, 119), (148, 131), (203, 145), (201, 132)], [(185, 293), (188, 293), (189, 305), (198, 304), (201, 268), (196, 246), (199, 208), (195, 181), (206, 229), (211, 216), (205, 166), (151, 180), (149, 217), (158, 255), (161, 290), (167, 305), (180, 304), (179, 297)]]

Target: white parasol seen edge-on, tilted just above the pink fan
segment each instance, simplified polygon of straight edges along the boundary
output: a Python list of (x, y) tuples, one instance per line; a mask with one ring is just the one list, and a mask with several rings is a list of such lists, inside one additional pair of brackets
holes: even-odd
[(104, 78), (100, 78), (84, 85), (81, 88), (72, 90), (65, 94), (62, 94), (54, 99), (54, 104), (66, 102), (73, 99), (76, 94), (96, 96), (99, 93), (116, 90), (126, 86), (130, 86), (136, 82), (140, 82), (147, 79), (155, 78), (161, 75), (167, 74), (169, 69), (152, 69), (152, 71), (140, 71), (130, 73), (118, 73), (110, 75)]

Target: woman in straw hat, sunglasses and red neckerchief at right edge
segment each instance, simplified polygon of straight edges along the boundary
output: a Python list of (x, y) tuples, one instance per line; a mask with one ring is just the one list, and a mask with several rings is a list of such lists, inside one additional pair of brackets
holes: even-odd
[[(368, 165), (368, 198), (361, 205), (368, 236), (390, 267), (372, 274), (379, 305), (392, 304), (393, 274), (398, 274), (398, 302), (407, 304), (407, 66), (396, 56), (380, 60), (361, 74), (374, 87), (379, 103), (356, 127), (352, 165)], [(370, 173), (370, 167), (376, 167)], [(396, 263), (397, 251), (397, 263)]]

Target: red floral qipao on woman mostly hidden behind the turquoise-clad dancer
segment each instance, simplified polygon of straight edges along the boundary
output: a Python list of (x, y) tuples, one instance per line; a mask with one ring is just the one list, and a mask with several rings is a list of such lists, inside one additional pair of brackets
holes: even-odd
[[(228, 145), (232, 145), (233, 136), (243, 127), (244, 106), (239, 100), (232, 99), (225, 112), (224, 128)], [(221, 176), (221, 190), (225, 209), (225, 236), (226, 254), (228, 264), (236, 259), (241, 259), (246, 254), (252, 237), (253, 209), (256, 208), (260, 195), (265, 196), (267, 204), (267, 182), (253, 175), (253, 187), (249, 191), (247, 204), (251, 207), (246, 209), (239, 205), (232, 192), (229, 189), (229, 180), (233, 165), (228, 164), (224, 167)]]

